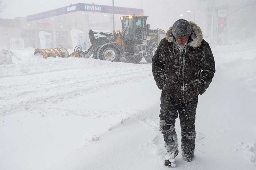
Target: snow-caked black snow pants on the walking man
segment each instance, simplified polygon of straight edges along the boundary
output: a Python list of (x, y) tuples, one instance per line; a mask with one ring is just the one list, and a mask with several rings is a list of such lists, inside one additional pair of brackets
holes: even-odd
[(193, 100), (174, 105), (171, 98), (162, 92), (160, 104), (160, 131), (165, 140), (165, 147), (169, 152), (178, 149), (175, 119), (180, 118), (182, 154), (194, 155), (195, 150), (195, 120), (198, 96)]

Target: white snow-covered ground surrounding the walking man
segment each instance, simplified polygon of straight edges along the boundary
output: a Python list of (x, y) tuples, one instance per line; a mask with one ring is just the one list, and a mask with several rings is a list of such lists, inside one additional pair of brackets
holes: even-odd
[[(33, 56), (0, 65), (1, 170), (163, 170), (151, 64)], [(176, 170), (256, 169), (256, 48), (212, 46), (216, 73), (196, 114), (195, 160)]]

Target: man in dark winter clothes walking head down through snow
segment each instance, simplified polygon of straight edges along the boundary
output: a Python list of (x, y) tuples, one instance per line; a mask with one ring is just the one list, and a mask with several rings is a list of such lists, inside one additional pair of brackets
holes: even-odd
[(166, 33), (152, 58), (152, 72), (161, 93), (160, 131), (167, 153), (165, 165), (175, 167), (179, 153), (175, 119), (180, 118), (182, 156), (194, 159), (198, 95), (205, 92), (215, 73), (209, 44), (199, 26), (179, 19)]

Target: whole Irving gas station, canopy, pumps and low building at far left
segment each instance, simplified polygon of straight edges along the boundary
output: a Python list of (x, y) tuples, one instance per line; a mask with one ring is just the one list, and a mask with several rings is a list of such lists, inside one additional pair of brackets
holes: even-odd
[(0, 19), (1, 44), (13, 49), (59, 48), (73, 49), (90, 46), (89, 29), (96, 32), (121, 30), (120, 16), (143, 15), (143, 9), (97, 5), (95, 3), (70, 4), (26, 18)]

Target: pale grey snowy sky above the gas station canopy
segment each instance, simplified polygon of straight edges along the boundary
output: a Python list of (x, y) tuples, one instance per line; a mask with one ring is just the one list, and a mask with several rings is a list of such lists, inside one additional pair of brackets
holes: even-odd
[[(112, 0), (3, 0), (6, 8), (0, 13), (0, 18), (14, 19), (15, 17), (26, 17), (49, 10), (54, 10), (71, 3), (96, 3), (100, 5), (112, 5)], [(195, 8), (196, 0), (114, 0), (115, 6), (143, 8), (144, 15), (149, 16), (148, 22), (151, 26), (162, 25), (167, 29), (173, 22), (180, 18), (181, 13)], [(188, 15), (188, 14), (187, 14)], [(189, 14), (188, 19), (193, 16)]]

